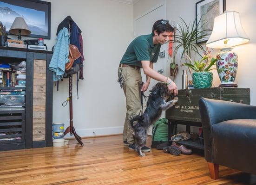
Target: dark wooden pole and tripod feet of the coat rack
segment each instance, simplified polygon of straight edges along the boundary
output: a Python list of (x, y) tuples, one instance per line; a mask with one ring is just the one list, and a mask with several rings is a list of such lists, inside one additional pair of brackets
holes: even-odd
[(82, 139), (76, 133), (75, 128), (73, 127), (73, 104), (72, 104), (72, 74), (68, 77), (68, 85), (69, 85), (69, 127), (66, 128), (64, 135), (70, 133), (70, 135), (74, 135), (76, 140), (80, 143), (80, 145), (84, 146)]

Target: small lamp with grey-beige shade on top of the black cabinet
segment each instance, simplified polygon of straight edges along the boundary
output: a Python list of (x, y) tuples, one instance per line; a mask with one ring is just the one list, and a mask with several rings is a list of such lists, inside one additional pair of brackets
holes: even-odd
[(29, 35), (31, 31), (29, 30), (25, 20), (22, 17), (16, 17), (9, 32), (13, 35), (18, 35), (18, 39), (21, 39), (23, 35)]

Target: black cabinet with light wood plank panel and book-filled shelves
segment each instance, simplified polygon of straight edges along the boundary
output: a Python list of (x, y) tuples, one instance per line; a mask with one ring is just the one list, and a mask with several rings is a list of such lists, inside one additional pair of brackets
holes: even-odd
[[(0, 141), (0, 151), (53, 145), (53, 73), (48, 69), (52, 55), (51, 51), (0, 47), (0, 63), (26, 61), (26, 87), (22, 87), (26, 91), (25, 109), (0, 110), (0, 133), (7, 131), (14, 135), (16, 133), (14, 137), (20, 140)], [(0, 87), (0, 89), (20, 89), (20, 87)], [(19, 119), (12, 120), (11, 117), (17, 114)], [(7, 125), (13, 125), (14, 131), (6, 130)], [(6, 136), (2, 134), (1, 137)]]

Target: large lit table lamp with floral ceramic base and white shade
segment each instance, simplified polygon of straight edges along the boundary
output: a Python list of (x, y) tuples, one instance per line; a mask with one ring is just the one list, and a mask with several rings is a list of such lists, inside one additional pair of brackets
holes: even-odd
[(243, 30), (239, 12), (225, 11), (214, 19), (213, 30), (206, 47), (220, 49), (217, 54), (217, 72), (220, 86), (237, 87), (236, 79), (238, 56), (233, 46), (248, 43), (249, 37)]

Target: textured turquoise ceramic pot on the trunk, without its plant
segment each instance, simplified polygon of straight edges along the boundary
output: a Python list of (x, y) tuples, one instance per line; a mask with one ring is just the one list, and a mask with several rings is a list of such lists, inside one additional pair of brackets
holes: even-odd
[(194, 88), (210, 88), (212, 85), (212, 72), (194, 72), (192, 81)]

